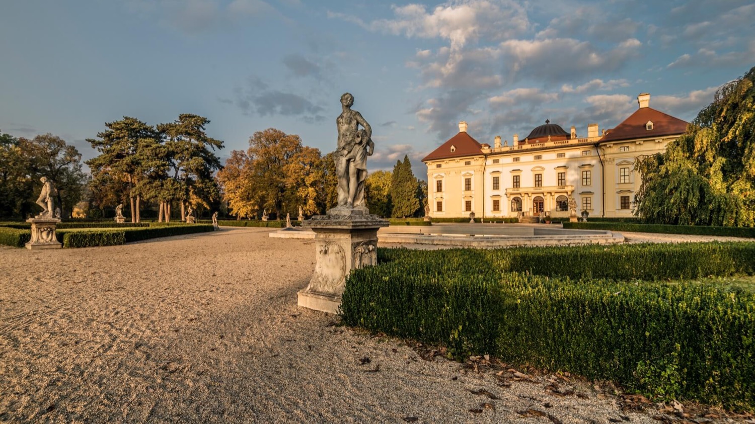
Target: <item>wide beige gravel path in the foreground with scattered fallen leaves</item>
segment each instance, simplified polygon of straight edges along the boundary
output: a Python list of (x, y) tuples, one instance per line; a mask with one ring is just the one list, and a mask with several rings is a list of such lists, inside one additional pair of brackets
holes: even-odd
[(0, 248), (0, 421), (657, 422), (300, 309), (313, 241), (268, 232)]

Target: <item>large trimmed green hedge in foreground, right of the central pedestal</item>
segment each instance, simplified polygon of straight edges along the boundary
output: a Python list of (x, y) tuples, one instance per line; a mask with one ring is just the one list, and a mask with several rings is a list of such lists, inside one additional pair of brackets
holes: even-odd
[(381, 248), (380, 265), (350, 274), (341, 315), (349, 325), (442, 343), (457, 358), (490, 353), (751, 410), (755, 294), (637, 278), (751, 275), (753, 255), (751, 243)]

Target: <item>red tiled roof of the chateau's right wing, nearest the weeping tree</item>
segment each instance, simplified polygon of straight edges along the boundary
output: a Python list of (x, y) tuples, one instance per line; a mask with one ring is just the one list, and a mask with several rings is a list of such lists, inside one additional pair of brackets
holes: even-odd
[[(653, 129), (647, 130), (645, 124), (652, 121)], [(600, 139), (600, 143), (606, 141), (633, 140), (637, 138), (662, 137), (673, 134), (683, 134), (687, 130), (689, 122), (682, 121), (666, 115), (664, 112), (643, 107), (637, 109), (629, 118), (624, 119), (616, 128), (608, 131), (608, 134)]]

